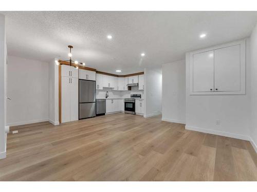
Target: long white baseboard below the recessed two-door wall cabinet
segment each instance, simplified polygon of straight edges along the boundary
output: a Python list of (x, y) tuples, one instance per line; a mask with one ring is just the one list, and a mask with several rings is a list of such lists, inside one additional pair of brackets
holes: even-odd
[(193, 126), (188, 126), (188, 125), (185, 126), (185, 129), (186, 130), (191, 130), (191, 131), (209, 133), (209, 134), (214, 134), (214, 135), (220, 135), (220, 136), (225, 136), (225, 137), (231, 137), (231, 138), (235, 138), (235, 139), (243, 139), (243, 140), (250, 141), (250, 137), (247, 136), (247, 135), (240, 135), (240, 134), (234, 134), (234, 133), (217, 131), (217, 130), (209, 130), (209, 129), (193, 127)]

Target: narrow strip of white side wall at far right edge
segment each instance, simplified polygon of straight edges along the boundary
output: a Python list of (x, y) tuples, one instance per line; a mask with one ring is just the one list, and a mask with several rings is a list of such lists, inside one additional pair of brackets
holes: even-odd
[(250, 137), (257, 153), (257, 25), (251, 34), (251, 126)]

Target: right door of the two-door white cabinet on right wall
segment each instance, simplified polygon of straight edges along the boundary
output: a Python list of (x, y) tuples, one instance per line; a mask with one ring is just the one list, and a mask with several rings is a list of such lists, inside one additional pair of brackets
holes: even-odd
[(240, 91), (240, 45), (214, 51), (215, 91)]

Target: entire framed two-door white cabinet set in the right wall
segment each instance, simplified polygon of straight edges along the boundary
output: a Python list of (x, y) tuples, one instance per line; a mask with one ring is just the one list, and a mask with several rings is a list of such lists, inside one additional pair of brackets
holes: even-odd
[(190, 94), (245, 94), (245, 40), (190, 53)]

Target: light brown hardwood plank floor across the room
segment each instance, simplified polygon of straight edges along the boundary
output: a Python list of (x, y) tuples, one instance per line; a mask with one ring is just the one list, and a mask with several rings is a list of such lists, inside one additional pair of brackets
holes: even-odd
[(160, 116), (113, 114), (12, 127), (4, 181), (256, 181), (248, 141), (185, 130)]

